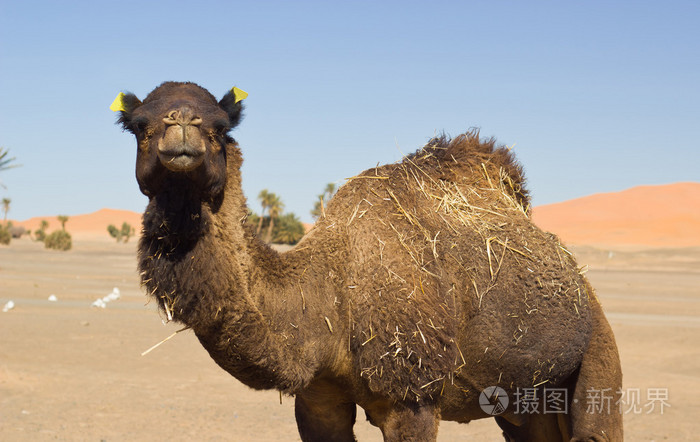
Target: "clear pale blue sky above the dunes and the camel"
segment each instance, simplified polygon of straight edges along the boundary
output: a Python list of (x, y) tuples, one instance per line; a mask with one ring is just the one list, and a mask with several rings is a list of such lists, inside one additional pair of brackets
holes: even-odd
[[(515, 144), (535, 205), (700, 181), (695, 1), (0, 0), (10, 217), (142, 211), (108, 109), (165, 80), (250, 96), (243, 187), (310, 221), (326, 183), (442, 131)], [(118, 222), (119, 220), (115, 220)]]

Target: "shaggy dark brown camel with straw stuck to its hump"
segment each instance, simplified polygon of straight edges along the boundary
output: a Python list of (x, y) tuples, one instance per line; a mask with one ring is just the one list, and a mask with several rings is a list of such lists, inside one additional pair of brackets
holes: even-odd
[(278, 253), (246, 224), (240, 94), (166, 82), (113, 104), (149, 198), (142, 285), (216, 364), (294, 396), (304, 441), (355, 440), (357, 405), (385, 441), (487, 417), (512, 441), (622, 439), (614, 402), (591, 406), (621, 389), (611, 328), (572, 254), (531, 222), (507, 148), (474, 130), (434, 138), (349, 178)]

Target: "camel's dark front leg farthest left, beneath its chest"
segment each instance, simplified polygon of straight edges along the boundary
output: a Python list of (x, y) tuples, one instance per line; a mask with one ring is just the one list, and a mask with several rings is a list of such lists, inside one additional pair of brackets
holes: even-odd
[(294, 415), (304, 442), (354, 442), (357, 407), (332, 395), (297, 394)]

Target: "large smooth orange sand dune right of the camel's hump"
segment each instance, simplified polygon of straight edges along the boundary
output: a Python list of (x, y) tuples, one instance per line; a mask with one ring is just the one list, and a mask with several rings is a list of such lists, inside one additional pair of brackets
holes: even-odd
[(569, 244), (700, 246), (700, 183), (639, 186), (538, 206), (532, 218)]

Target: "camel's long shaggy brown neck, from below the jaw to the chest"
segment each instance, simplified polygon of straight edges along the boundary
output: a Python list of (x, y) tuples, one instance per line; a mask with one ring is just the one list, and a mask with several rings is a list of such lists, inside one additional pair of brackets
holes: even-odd
[(200, 202), (184, 185), (151, 199), (139, 246), (142, 281), (166, 315), (191, 326), (226, 371), (255, 388), (293, 391), (311, 369), (300, 366), (302, 343), (280, 342), (271, 323), (284, 306), (265, 301), (263, 293), (282, 290), (279, 275), (287, 272), (280, 256), (244, 227), (240, 154), (230, 147), (228, 155), (228, 181), (218, 200)]

